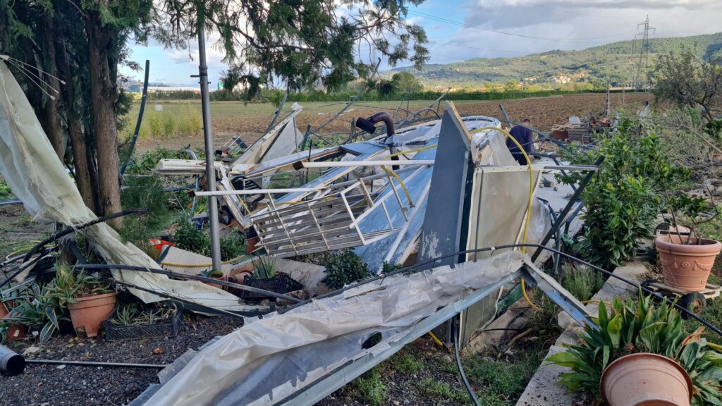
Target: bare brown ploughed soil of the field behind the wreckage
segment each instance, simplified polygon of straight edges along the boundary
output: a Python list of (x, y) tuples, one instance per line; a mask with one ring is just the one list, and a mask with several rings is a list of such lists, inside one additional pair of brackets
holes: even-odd
[[(624, 96), (625, 105), (630, 108), (638, 108), (645, 102), (654, 99), (651, 93), (627, 93)], [(430, 102), (417, 100), (411, 102), (409, 110), (422, 108)], [(610, 97), (612, 109), (622, 105), (622, 95), (614, 93)], [(266, 103), (268, 104), (268, 103)], [(303, 103), (301, 103), (303, 104)], [(324, 108), (322, 112), (318, 108), (308, 108), (297, 116), (297, 128), (305, 133), (307, 126), (316, 128), (326, 123), (333, 113), (329, 111), (340, 110), (343, 103), (332, 108)], [(331, 124), (324, 127), (321, 134), (344, 133), (348, 134), (351, 119), (357, 117), (367, 117), (379, 111), (388, 111), (393, 113), (396, 110), (396, 103), (386, 103), (388, 108), (370, 108), (364, 107), (373, 102), (360, 102), (360, 105), (353, 105), (352, 108), (344, 113)], [(550, 131), (554, 124), (562, 124), (567, 121), (569, 116), (588, 116), (593, 114), (599, 116), (604, 113), (606, 105), (606, 95), (601, 93), (588, 93), (581, 95), (562, 95), (549, 98), (528, 98), (518, 100), (490, 100), (490, 101), (474, 101), (474, 100), (458, 100), (454, 102), (458, 113), (461, 115), (482, 115), (502, 117), (499, 105), (503, 104), (508, 113), (510, 120), (521, 121), (523, 118), (529, 118), (531, 125), (540, 131)], [(393, 105), (393, 107), (391, 107)], [(212, 107), (213, 108), (213, 107)], [(443, 109), (443, 103), (441, 105)], [(267, 111), (266, 111), (267, 110)], [(215, 147), (221, 147), (233, 137), (240, 136), (246, 144), (256, 141), (266, 126), (271, 121), (269, 112), (273, 108), (255, 108), (251, 112), (242, 114), (218, 114), (213, 117), (213, 139)], [(432, 114), (432, 113), (431, 113)], [(404, 114), (401, 114), (403, 117)], [(170, 139), (149, 139), (139, 140), (137, 149), (139, 152), (152, 150), (158, 145), (169, 149), (180, 149), (190, 144), (191, 148), (204, 147), (204, 139), (201, 135), (194, 137), (178, 137)]]

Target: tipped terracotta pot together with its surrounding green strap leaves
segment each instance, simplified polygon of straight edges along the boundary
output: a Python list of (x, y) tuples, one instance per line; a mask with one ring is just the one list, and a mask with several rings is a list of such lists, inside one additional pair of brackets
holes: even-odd
[(572, 369), (560, 383), (590, 393), (599, 403), (623, 405), (722, 405), (722, 353), (702, 338), (685, 334), (674, 306), (614, 298), (607, 314), (599, 304), (598, 326), (586, 325), (580, 344), (547, 358)]

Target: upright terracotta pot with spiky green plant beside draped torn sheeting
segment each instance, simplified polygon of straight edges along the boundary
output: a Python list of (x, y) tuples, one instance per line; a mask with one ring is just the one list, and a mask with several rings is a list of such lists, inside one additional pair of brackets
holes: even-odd
[(70, 321), (76, 334), (97, 336), (100, 324), (116, 307), (116, 293), (107, 283), (89, 275), (82, 269), (73, 272), (69, 267), (57, 267), (55, 279), (49, 285), (49, 296), (58, 306), (68, 308)]

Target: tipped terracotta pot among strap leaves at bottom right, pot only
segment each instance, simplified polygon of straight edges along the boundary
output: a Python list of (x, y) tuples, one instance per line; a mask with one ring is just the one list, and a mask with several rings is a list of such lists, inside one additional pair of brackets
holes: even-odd
[(625, 355), (606, 367), (599, 390), (607, 406), (689, 406), (692, 379), (678, 363), (662, 355)]

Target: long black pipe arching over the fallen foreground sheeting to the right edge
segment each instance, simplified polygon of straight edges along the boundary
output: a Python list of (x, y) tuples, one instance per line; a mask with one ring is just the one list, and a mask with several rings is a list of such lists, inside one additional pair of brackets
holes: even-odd
[[(620, 277), (619, 275), (614, 275), (614, 272), (610, 272), (610, 271), (607, 271), (606, 269), (602, 269), (602, 268), (600, 268), (600, 267), (597, 267), (596, 265), (590, 264), (589, 262), (586, 262), (586, 261), (584, 261), (583, 259), (577, 258), (576, 256), (567, 254), (567, 253), (562, 252), (562, 251), (559, 251), (559, 250), (557, 250), (557, 249), (553, 249), (553, 248), (548, 247), (548, 246), (542, 246), (541, 244), (505, 244), (505, 245), (501, 245), (501, 246), (484, 247), (484, 248), (477, 248), (477, 249), (466, 249), (466, 250), (464, 250), (464, 251), (456, 251), (456, 252), (454, 252), (453, 254), (446, 254), (446, 255), (443, 255), (443, 256), (437, 256), (436, 258), (427, 259), (426, 261), (419, 262), (418, 264), (414, 264), (414, 265), (412, 265), (412, 266), (410, 266), (410, 267), (405, 267), (405, 268), (401, 268), (401, 269), (396, 269), (395, 271), (389, 272), (388, 274), (378, 275), (378, 276), (372, 277), (372, 278), (370, 278), (370, 279), (363, 280), (362, 282), (357, 282), (357, 283), (354, 283), (354, 284), (352, 284), (352, 285), (348, 285), (348, 286), (346, 286), (346, 287), (344, 287), (344, 288), (341, 288), (341, 289), (338, 289), (338, 290), (334, 290), (334, 291), (332, 291), (332, 292), (325, 293), (325, 294), (323, 294), (323, 295), (318, 295), (318, 296), (316, 296), (316, 298), (307, 299), (307, 300), (302, 301), (302, 302), (300, 302), (300, 303), (296, 303), (296, 304), (293, 305), (293, 306), (289, 306), (289, 307), (287, 307), (287, 308), (284, 308), (284, 309), (282, 309), (282, 310), (279, 310), (278, 313), (279, 313), (279, 314), (283, 314), (283, 313), (285, 313), (285, 312), (287, 312), (287, 311), (290, 311), (290, 310), (293, 309), (293, 308), (297, 308), (297, 307), (303, 306), (303, 305), (308, 304), (308, 303), (310, 303), (310, 302), (312, 302), (312, 301), (316, 301), (316, 300), (322, 299), (322, 298), (328, 298), (329, 296), (333, 296), (333, 295), (338, 295), (339, 293), (345, 292), (346, 290), (353, 289), (353, 288), (357, 288), (358, 286), (365, 285), (365, 284), (370, 283), (370, 282), (375, 282), (376, 280), (383, 280), (383, 279), (385, 279), (386, 277), (390, 277), (390, 276), (392, 276), (392, 275), (396, 275), (396, 274), (399, 274), (399, 273), (402, 273), (402, 272), (413, 271), (414, 268), (421, 267), (422, 265), (426, 265), (426, 264), (432, 264), (432, 263), (434, 263), (434, 262), (440, 261), (441, 259), (451, 258), (452, 256), (458, 256), (458, 255), (461, 255), (461, 254), (473, 254), (473, 253), (475, 253), (475, 252), (496, 251), (496, 250), (498, 250), (498, 249), (514, 249), (514, 248), (521, 248), (521, 247), (537, 248), (537, 249), (540, 248), (540, 249), (546, 249), (547, 251), (552, 251), (552, 253), (554, 253), (554, 254), (559, 254), (559, 255), (561, 255), (561, 256), (564, 256), (564, 257), (567, 258), (567, 259), (571, 259), (571, 260), (573, 260), (573, 261), (575, 261), (575, 262), (578, 262), (578, 263), (580, 263), (580, 264), (585, 265), (586, 267), (590, 267), (591, 269), (594, 269), (594, 270), (597, 271), (597, 272), (601, 272), (601, 273), (603, 273), (604, 275), (607, 275), (607, 276), (610, 276), (610, 277), (614, 277), (614, 278), (617, 279), (617, 280), (621, 280), (622, 282), (627, 283), (627, 285), (632, 285), (632, 286), (634, 286), (635, 288), (641, 289), (641, 290), (643, 290), (643, 292), (647, 293), (648, 295), (653, 295), (653, 296), (655, 296), (655, 297), (660, 297), (658, 294), (656, 294), (656, 293), (653, 292), (652, 290), (649, 290), (648, 288), (645, 288), (644, 286), (638, 285), (637, 283), (632, 282), (631, 280), (628, 280), (628, 279), (626, 279), (626, 278), (624, 278), (624, 277)], [(700, 316), (697, 316), (696, 314), (692, 313), (691, 311), (687, 310), (686, 308), (684, 308), (684, 307), (682, 307), (682, 306), (679, 306), (677, 303), (674, 303), (674, 301), (671, 301), (669, 298), (665, 298), (665, 297), (661, 297), (661, 298), (664, 299), (664, 301), (666, 301), (667, 303), (674, 305), (674, 308), (677, 308), (677, 310), (682, 311), (682, 313), (687, 314), (687, 316), (690, 316), (691, 319), (697, 320), (700, 324), (702, 324), (702, 325), (705, 326), (705, 327), (708, 327), (710, 330), (712, 330), (713, 332), (715, 332), (716, 334), (718, 334), (720, 337), (722, 337), (722, 331), (721, 331), (720, 329), (718, 329), (717, 327), (713, 326), (712, 324), (710, 324), (709, 321), (703, 319), (703, 318), (700, 317)]]

